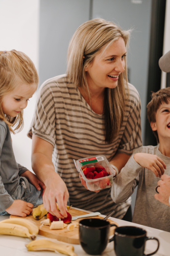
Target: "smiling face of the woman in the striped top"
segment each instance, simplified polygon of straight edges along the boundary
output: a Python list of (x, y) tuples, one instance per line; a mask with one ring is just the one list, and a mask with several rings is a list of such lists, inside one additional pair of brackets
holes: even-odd
[(89, 88), (115, 88), (119, 75), (125, 71), (125, 55), (126, 47), (122, 37), (109, 47), (104, 47), (86, 66)]

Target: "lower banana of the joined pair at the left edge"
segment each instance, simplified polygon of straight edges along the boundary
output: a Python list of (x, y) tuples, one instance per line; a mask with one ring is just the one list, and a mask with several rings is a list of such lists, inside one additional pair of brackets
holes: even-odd
[(35, 240), (36, 236), (30, 234), (27, 227), (23, 227), (12, 223), (0, 223), (0, 234), (9, 234), (11, 236), (30, 238)]

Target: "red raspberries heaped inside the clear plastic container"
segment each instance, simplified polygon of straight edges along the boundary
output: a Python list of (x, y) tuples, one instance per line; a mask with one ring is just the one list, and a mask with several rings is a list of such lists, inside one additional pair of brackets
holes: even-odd
[(96, 163), (95, 166), (85, 167), (82, 168), (83, 173), (87, 179), (98, 179), (103, 178), (106, 176), (109, 176), (109, 174), (106, 172), (105, 167), (103, 167), (101, 164)]

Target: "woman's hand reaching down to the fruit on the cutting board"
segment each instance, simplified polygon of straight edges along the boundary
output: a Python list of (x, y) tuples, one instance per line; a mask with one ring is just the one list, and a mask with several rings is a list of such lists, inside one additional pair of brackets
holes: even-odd
[[(67, 201), (69, 198), (67, 187), (57, 173), (46, 180), (46, 188), (43, 192), (44, 208), (58, 218), (67, 217)], [(60, 211), (57, 209), (56, 202)]]

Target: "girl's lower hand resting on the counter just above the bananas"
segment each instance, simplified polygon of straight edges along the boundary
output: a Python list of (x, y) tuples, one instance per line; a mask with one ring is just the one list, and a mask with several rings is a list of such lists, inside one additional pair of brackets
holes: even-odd
[(33, 204), (22, 201), (14, 200), (13, 204), (6, 209), (6, 211), (15, 216), (26, 217), (32, 212)]

